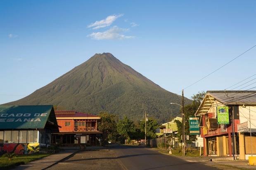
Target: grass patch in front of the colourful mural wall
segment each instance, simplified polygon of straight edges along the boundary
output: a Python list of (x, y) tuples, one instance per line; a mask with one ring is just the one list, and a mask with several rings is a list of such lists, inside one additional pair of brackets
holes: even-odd
[(0, 157), (0, 170), (9, 170), (49, 155), (51, 155), (51, 153), (17, 155), (17, 158), (12, 158), (11, 161), (8, 161), (8, 158)]

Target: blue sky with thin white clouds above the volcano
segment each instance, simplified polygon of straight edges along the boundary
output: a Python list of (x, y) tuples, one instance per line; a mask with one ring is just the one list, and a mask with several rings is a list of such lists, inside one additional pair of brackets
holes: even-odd
[(0, 104), (104, 52), (187, 98), (256, 90), (255, 0), (1, 0), (0, 16)]

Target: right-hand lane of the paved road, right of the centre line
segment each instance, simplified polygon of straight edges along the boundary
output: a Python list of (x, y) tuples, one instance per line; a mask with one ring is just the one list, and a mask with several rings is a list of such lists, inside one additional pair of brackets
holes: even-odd
[(157, 150), (139, 146), (115, 146), (119, 161), (128, 170), (219, 170), (197, 162), (187, 162), (174, 156), (159, 153)]

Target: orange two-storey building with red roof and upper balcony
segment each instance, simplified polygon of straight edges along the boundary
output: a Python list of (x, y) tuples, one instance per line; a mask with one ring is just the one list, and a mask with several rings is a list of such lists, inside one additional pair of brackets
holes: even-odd
[(99, 116), (76, 111), (55, 111), (59, 133), (52, 134), (52, 144), (63, 146), (96, 146), (102, 132), (97, 130)]

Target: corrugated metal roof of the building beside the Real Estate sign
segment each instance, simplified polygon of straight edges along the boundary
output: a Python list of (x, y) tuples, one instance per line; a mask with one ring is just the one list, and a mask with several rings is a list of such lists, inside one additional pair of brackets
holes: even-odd
[(206, 114), (218, 101), (223, 105), (256, 105), (256, 91), (207, 91), (196, 114)]

